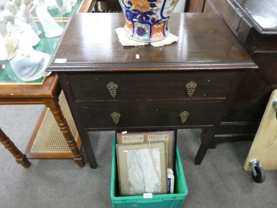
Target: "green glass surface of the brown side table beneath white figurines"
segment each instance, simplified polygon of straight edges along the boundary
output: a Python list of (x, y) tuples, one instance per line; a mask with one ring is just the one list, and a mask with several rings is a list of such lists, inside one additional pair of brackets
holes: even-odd
[[(46, 38), (45, 33), (43, 31), (43, 27), (39, 22), (36, 22), (38, 25), (38, 29), (41, 31), (41, 35), (39, 36), (40, 41), (37, 45), (35, 45), (33, 48), (37, 51), (42, 51), (44, 53), (48, 53), (52, 55), (59, 39), (61, 36), (54, 37), (54, 38)], [(66, 21), (57, 21), (57, 23), (64, 28), (66, 26)], [(14, 71), (12, 70), (10, 66), (10, 61), (5, 61), (5, 69), (1, 69), (0, 67), (0, 85), (1, 84), (42, 84), (44, 77), (30, 81), (30, 82), (24, 82), (21, 80), (17, 75), (15, 75)]]

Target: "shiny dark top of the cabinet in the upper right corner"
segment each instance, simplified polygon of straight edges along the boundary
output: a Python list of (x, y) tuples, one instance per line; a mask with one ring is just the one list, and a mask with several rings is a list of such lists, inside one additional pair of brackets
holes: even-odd
[(277, 0), (230, 0), (261, 34), (277, 34)]

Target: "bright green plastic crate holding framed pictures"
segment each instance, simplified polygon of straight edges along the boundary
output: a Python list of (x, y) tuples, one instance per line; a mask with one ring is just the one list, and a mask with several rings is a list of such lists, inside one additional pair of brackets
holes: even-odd
[(176, 148), (176, 173), (174, 193), (176, 194), (157, 194), (153, 195), (151, 199), (145, 199), (143, 196), (126, 196), (118, 197), (117, 192), (117, 174), (116, 171), (116, 151), (115, 151), (115, 137), (113, 143), (113, 159), (111, 170), (111, 186), (110, 197), (113, 208), (179, 208), (182, 206), (187, 196), (187, 184), (181, 163), (178, 146)]

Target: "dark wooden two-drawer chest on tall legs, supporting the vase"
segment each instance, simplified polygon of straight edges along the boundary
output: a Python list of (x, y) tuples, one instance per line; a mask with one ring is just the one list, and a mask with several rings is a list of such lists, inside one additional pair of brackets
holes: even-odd
[(74, 14), (47, 69), (58, 73), (90, 166), (88, 131), (178, 128), (204, 128), (200, 164), (244, 71), (257, 66), (216, 14), (172, 14), (179, 41), (163, 47), (123, 47), (114, 29), (124, 24), (123, 14)]

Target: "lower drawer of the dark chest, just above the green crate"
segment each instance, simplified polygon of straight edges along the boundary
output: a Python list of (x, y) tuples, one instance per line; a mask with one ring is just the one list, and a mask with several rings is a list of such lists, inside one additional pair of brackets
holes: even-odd
[(222, 103), (77, 105), (86, 129), (213, 125), (221, 106)]

